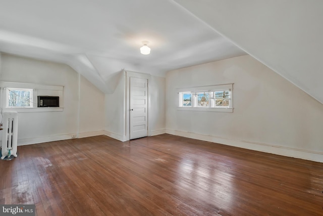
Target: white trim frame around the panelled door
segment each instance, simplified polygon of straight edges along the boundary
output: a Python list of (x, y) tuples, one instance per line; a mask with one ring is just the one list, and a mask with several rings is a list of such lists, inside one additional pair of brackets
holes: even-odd
[(150, 110), (150, 91), (149, 91), (149, 79), (151, 77), (150, 74), (148, 73), (138, 73), (134, 71), (128, 71), (125, 70), (126, 72), (126, 112), (125, 112), (125, 131), (126, 131), (126, 141), (130, 140), (130, 77), (135, 77), (135, 78), (142, 78), (142, 79), (147, 79), (148, 84), (147, 84), (147, 91), (148, 91), (148, 110), (147, 110), (147, 129), (148, 129), (148, 137), (151, 136), (151, 130), (149, 126), (149, 110)]

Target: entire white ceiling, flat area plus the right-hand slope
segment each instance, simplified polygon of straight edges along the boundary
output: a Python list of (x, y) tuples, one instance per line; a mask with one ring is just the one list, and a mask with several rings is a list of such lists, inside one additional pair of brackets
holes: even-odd
[(0, 0), (0, 52), (66, 63), (107, 94), (122, 69), (165, 76), (249, 54), (323, 103), (322, 11), (321, 0)]

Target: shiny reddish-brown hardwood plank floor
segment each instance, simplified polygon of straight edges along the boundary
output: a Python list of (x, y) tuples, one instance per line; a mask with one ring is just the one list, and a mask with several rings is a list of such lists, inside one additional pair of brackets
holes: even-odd
[(172, 135), (18, 147), (0, 204), (36, 215), (323, 215), (323, 163)]

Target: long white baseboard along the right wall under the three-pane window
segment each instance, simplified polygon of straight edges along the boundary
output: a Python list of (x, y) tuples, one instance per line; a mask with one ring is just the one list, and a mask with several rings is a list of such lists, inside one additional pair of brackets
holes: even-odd
[(166, 134), (172, 134), (172, 135), (177, 135), (181, 137), (187, 137), (187, 138), (203, 140), (203, 141), (208, 141), (213, 143), (220, 143), (228, 146), (235, 146), (235, 147), (240, 147), (244, 149), (272, 153), (272, 154), (277, 154), (282, 156), (295, 157), (295, 158), (311, 160), (316, 162), (323, 162), (323, 152), (308, 151), (304, 149), (226, 139), (226, 138), (214, 137), (209, 135), (201, 135), (201, 134), (195, 134), (190, 132), (176, 131), (171, 129), (166, 129)]

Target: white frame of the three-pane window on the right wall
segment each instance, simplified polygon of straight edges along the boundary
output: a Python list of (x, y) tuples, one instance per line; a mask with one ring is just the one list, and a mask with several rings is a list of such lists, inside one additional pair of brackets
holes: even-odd
[[(233, 112), (233, 83), (229, 84), (219, 84), (219, 85), (207, 85), (204, 87), (193, 87), (193, 88), (184, 88), (177, 89), (179, 96), (179, 111), (209, 111), (209, 112)], [(214, 92), (229, 91), (229, 106), (216, 106), (216, 98), (210, 95), (213, 95)], [(208, 93), (208, 106), (198, 106), (197, 95), (200, 93)], [(191, 106), (183, 106), (183, 95), (191, 94)]]

